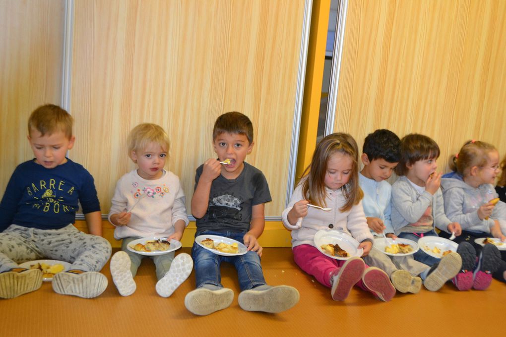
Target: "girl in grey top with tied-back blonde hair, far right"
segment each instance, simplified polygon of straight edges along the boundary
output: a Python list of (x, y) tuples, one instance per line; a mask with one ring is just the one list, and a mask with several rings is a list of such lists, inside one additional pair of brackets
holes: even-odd
[[(462, 269), (473, 273), (473, 288), (485, 290), (492, 276), (502, 282), (506, 277), (506, 252), (493, 244), (484, 247), (477, 238), (496, 237), (506, 245), (506, 204), (491, 202), (497, 198), (493, 183), (499, 173), (499, 153), (493, 145), (483, 141), (468, 141), (450, 161), (449, 173), (441, 179), (446, 214), (462, 226), (462, 235), (455, 242), (472, 245), (469, 258), (462, 257)], [(447, 233), (440, 234), (448, 237)], [(476, 260), (479, 254), (480, 259)]]

